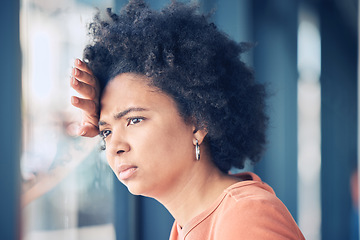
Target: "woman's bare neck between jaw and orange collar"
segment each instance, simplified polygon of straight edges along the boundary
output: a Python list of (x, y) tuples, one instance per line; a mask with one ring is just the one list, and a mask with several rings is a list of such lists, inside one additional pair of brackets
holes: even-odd
[(208, 156), (203, 155), (184, 175), (166, 196), (156, 198), (181, 227), (211, 206), (227, 187), (239, 181), (222, 173)]

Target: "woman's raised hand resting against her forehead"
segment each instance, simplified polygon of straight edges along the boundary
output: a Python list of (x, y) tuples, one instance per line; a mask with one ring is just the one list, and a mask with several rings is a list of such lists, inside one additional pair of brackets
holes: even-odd
[(71, 97), (71, 104), (82, 110), (82, 122), (78, 134), (95, 137), (99, 134), (99, 83), (90, 68), (80, 59), (75, 60), (71, 75), (71, 87), (82, 96), (82, 98)]

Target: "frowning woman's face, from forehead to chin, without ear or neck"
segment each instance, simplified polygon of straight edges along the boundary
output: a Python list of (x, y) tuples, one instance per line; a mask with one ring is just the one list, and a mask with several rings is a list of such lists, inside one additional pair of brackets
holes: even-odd
[(194, 127), (171, 97), (142, 75), (123, 73), (106, 86), (100, 132), (110, 167), (136, 195), (161, 197), (189, 177), (195, 160)]

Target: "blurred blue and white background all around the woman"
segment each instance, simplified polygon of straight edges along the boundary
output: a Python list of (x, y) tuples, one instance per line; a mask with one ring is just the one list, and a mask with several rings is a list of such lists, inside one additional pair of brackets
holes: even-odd
[[(0, 239), (168, 239), (173, 218), (130, 195), (98, 139), (74, 129), (75, 58), (97, 9), (125, 0), (7, 0), (0, 8)], [(357, 0), (197, 0), (270, 92), (254, 171), (308, 240), (359, 239)], [(155, 9), (166, 0), (147, 0)]]

